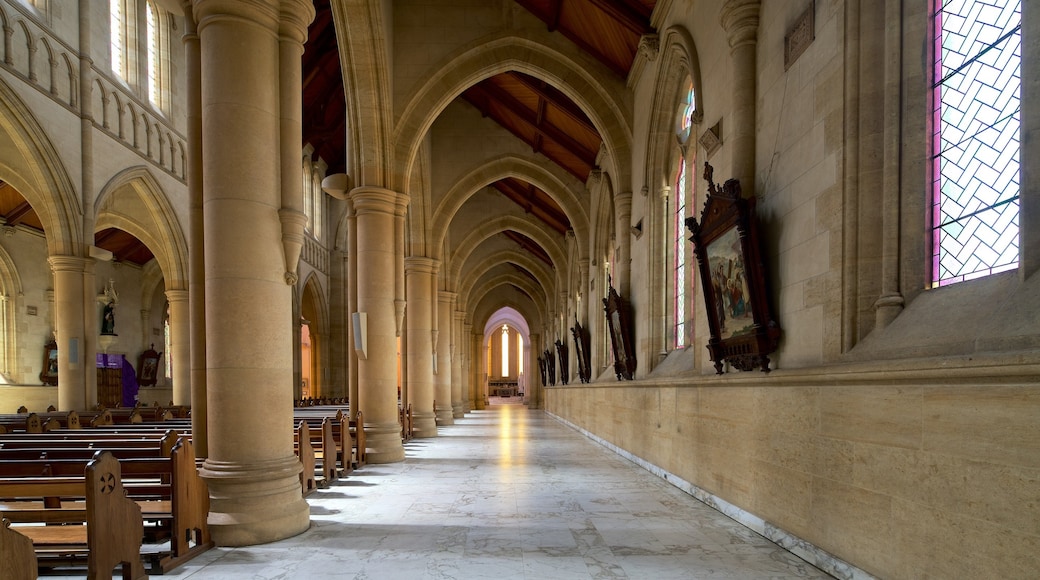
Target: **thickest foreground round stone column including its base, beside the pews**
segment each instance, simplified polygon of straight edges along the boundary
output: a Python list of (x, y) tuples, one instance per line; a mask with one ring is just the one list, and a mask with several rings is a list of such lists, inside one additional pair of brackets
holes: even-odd
[[(209, 527), (219, 546), (310, 526), (293, 451), (279, 168), (282, 3), (196, 0), (202, 48)], [(241, 323), (249, 321), (249, 323)], [(281, 425), (281, 428), (272, 426)]]

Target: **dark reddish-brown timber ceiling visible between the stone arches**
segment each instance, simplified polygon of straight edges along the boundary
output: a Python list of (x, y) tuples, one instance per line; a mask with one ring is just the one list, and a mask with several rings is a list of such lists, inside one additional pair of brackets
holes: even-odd
[[(516, 0), (516, 3), (624, 79), (642, 35), (651, 31), (656, 0)], [(336, 31), (329, 0), (315, 0), (316, 16), (304, 51), (304, 141), (329, 165), (345, 170), (343, 85)], [(506, 72), (469, 87), (459, 98), (494, 121), (532, 152), (584, 182), (596, 164), (602, 137), (589, 116), (556, 87), (519, 72)], [(545, 191), (517, 180), (492, 187), (563, 235), (567, 214)], [(549, 262), (537, 243), (515, 232), (505, 234), (519, 247)]]

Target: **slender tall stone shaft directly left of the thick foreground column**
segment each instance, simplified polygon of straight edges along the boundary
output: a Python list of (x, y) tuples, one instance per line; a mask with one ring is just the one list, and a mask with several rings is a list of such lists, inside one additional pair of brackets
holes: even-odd
[[(187, 113), (187, 151), (185, 170), (188, 187), (189, 245), (188, 245), (188, 339), (191, 389), (191, 443), (196, 455), (209, 455), (209, 437), (206, 403), (206, 258), (205, 225), (202, 200), (202, 47), (196, 30), (191, 0), (182, 2), (184, 7), (184, 65), (185, 109)], [(176, 381), (175, 381), (176, 384)]]

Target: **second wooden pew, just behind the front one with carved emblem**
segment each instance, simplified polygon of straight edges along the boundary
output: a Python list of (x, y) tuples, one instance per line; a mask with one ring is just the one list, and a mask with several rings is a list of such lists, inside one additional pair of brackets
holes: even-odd
[[(92, 447), (87, 445), (92, 443), (86, 439), (88, 433), (75, 431), (81, 439), (74, 441), (52, 440), (51, 433), (35, 436), (40, 438), (35, 448), (27, 447), (33, 436), (21, 436), (19, 448), (0, 449), (0, 477), (67, 477), (82, 473), (92, 454), (108, 447), (120, 458), (124, 490), (137, 502), (149, 523), (147, 537), (152, 543), (170, 542), (168, 549), (148, 547), (146, 558), (153, 572), (170, 572), (213, 547), (207, 524), (209, 491), (199, 476), (190, 439), (167, 431), (150, 440), (98, 439)], [(4, 443), (10, 442), (0, 440), (0, 444)], [(54, 447), (69, 444), (78, 445)], [(4, 507), (5, 503), (0, 502), (0, 510)], [(53, 507), (53, 502), (46, 507)]]

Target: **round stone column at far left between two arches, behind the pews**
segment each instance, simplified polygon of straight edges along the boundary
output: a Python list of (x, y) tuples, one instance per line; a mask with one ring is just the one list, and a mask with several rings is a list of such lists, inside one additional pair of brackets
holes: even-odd
[[(76, 411), (93, 406), (98, 400), (97, 389), (87, 392), (86, 375), (95, 373), (95, 362), (88, 360), (94, 342), (87, 350), (86, 317), (96, 315), (96, 308), (84, 308), (94, 299), (84, 292), (83, 272), (86, 258), (51, 256), (47, 259), (54, 272), (54, 336), (58, 345), (58, 410)], [(97, 385), (97, 378), (94, 381)]]

